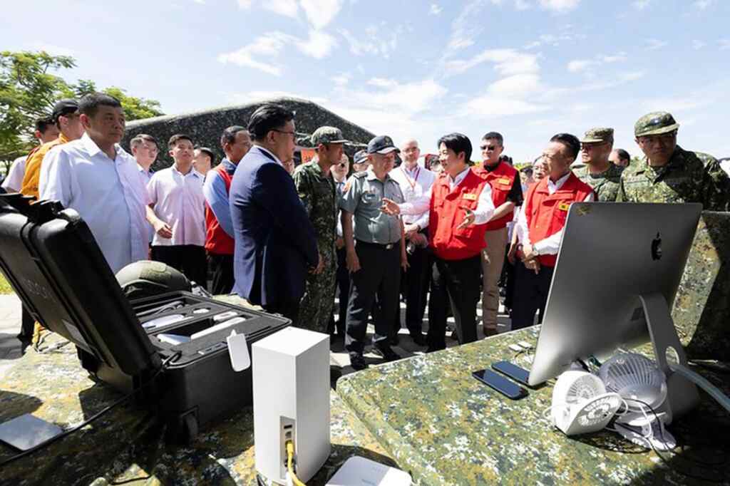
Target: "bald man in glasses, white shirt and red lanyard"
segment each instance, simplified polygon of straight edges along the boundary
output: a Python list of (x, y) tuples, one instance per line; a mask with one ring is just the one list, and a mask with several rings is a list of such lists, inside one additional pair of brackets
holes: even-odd
[[(418, 165), (420, 149), (418, 141), (409, 139), (401, 145), (403, 163), (391, 171), (391, 178), (401, 186), (405, 202), (415, 201), (428, 193), (434, 185), (436, 174)], [(401, 274), (401, 294), (406, 297), (406, 327), (415, 344), (426, 345), (423, 337), (423, 313), (426, 312), (426, 294), (429, 291), (429, 269), (431, 266), (427, 250), (429, 239), (429, 210), (417, 215), (402, 217), (407, 244), (408, 269)], [(401, 312), (396, 314), (393, 323), (391, 344), (397, 344), (397, 333), (401, 328)]]

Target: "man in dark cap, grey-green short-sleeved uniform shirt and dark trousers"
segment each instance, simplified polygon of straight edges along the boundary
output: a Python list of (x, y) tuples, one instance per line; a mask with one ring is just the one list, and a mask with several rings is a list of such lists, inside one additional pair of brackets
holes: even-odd
[(380, 211), (383, 198), (404, 201), (398, 182), (388, 176), (398, 151), (389, 136), (372, 139), (367, 147), (370, 166), (350, 177), (339, 204), (350, 271), (345, 347), (354, 369), (367, 367), (363, 351), (373, 304), (374, 352), (388, 361), (400, 358), (388, 343), (388, 332), (399, 306), (399, 266), (407, 262), (403, 225), (399, 217)]

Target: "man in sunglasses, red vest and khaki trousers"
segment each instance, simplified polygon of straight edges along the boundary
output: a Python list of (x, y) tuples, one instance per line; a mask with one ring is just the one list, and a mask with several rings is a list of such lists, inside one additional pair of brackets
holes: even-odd
[(485, 336), (497, 333), (499, 310), (499, 277), (502, 275), (504, 252), (507, 250), (507, 223), (512, 222), (515, 206), (522, 204), (522, 182), (517, 169), (502, 160), (504, 139), (491, 131), (482, 137), (481, 169), (475, 169), (492, 189), (494, 215), (487, 223), (484, 239), (487, 247), (482, 252), (482, 328)]

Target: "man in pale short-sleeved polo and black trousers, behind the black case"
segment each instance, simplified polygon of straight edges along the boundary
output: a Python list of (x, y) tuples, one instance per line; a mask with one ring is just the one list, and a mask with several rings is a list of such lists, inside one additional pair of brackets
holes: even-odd
[(147, 183), (151, 201), (147, 220), (155, 228), (151, 256), (207, 288), (204, 177), (193, 169), (189, 136), (175, 134), (167, 146), (174, 163), (155, 172)]

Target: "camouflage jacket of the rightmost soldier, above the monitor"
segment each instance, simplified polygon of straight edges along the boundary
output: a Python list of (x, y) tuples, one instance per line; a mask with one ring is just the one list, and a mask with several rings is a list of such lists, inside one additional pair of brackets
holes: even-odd
[(729, 198), (730, 180), (717, 159), (677, 145), (664, 166), (651, 167), (643, 158), (626, 167), (616, 201), (699, 202), (707, 211), (726, 211)]

